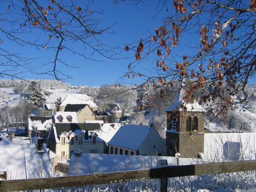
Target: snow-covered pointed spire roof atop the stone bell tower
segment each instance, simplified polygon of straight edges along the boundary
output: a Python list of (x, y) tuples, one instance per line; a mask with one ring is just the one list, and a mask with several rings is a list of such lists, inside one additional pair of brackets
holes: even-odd
[(179, 90), (180, 92), (177, 93), (176, 99), (172, 105), (170, 105), (165, 111), (166, 112), (172, 112), (172, 111), (185, 111), (184, 108), (181, 108), (181, 105), (186, 107), (186, 111), (191, 111), (191, 112), (206, 112), (204, 108), (197, 102), (197, 101), (192, 101), (188, 102), (184, 100), (184, 97), (186, 96), (185, 91), (186, 91), (186, 82), (185, 78), (183, 78), (182, 82), (180, 83)]

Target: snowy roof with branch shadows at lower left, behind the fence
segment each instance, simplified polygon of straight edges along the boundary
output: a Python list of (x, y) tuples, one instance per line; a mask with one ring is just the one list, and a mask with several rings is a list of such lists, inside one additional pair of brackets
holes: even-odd
[(44, 154), (36, 153), (36, 145), (0, 145), (0, 170), (7, 171), (8, 179), (34, 179), (55, 177), (47, 149)]

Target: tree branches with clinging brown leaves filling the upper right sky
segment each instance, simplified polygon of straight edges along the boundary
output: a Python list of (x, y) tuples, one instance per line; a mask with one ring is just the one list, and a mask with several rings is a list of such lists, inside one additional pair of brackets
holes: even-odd
[[(136, 5), (143, 1), (134, 1)], [(220, 103), (217, 115), (223, 115), (236, 104), (231, 97), (243, 91), (248, 78), (255, 75), (255, 9), (256, 1), (158, 1), (158, 11), (166, 11), (160, 28), (146, 39), (127, 44), (136, 61), (130, 63), (127, 77), (143, 78), (161, 95), (177, 80), (189, 77), (185, 100)], [(174, 8), (173, 8), (174, 6)], [(175, 10), (173, 10), (175, 9)], [(158, 16), (158, 14), (156, 14)], [(152, 57), (152, 55), (154, 57)], [(152, 59), (153, 58), (153, 59)], [(138, 63), (152, 59), (147, 70), (136, 71)], [(209, 106), (209, 112), (212, 112)]]

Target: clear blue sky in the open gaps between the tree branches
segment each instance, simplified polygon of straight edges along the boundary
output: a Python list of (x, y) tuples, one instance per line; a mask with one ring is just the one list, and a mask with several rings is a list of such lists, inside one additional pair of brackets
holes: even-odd
[[(140, 40), (140, 38), (146, 38), (150, 35), (149, 31), (152, 34), (155, 34), (155, 28), (159, 28), (162, 24), (162, 18), (168, 16), (168, 13), (174, 12), (173, 6), (169, 6), (172, 10), (161, 11), (157, 16), (157, 1), (150, 0), (147, 1), (147, 5), (139, 5), (136, 7), (135, 5), (121, 3), (114, 4), (114, 1), (102, 1), (102, 0), (94, 0), (94, 3), (90, 4), (90, 9), (92, 11), (101, 11), (103, 10), (103, 15), (100, 18), (102, 20), (101, 26), (102, 28), (112, 26), (115, 24), (110, 31), (113, 31), (114, 34), (106, 34), (102, 35), (101, 40), (113, 47), (121, 47), (124, 48), (126, 44), (129, 44), (134, 41)], [(81, 2), (77, 1), (77, 4)], [(0, 10), (6, 11), (8, 4), (3, 2), (0, 3)], [(155, 16), (155, 17), (154, 17)], [(33, 34), (29, 34), (33, 36)], [(3, 35), (1, 35), (2, 38)], [(2, 39), (1, 39), (2, 40)], [(187, 41), (194, 40), (186, 37)], [(26, 46), (26, 47), (17, 47), (15, 44), (4, 45), (5, 39), (1, 46), (6, 46), (6, 49), (14, 50), (14, 52), (21, 52), (25, 55), (32, 56), (33, 58), (38, 58), (32, 60), (31, 66), (39, 66), (41, 63), (48, 62), (49, 59), (53, 58), (53, 53), (51, 53), (47, 49), (35, 49), (34, 47)], [(49, 45), (50, 46), (50, 45)], [(80, 46), (79, 44), (75, 46)], [(83, 48), (81, 47), (81, 50)], [(86, 50), (82, 50), (82, 52), (87, 53)], [(184, 51), (184, 50), (179, 50)], [(62, 67), (62, 72), (68, 75), (72, 75), (72, 79), (66, 80), (66, 82), (70, 82), (71, 86), (101, 86), (102, 84), (115, 84), (119, 77), (123, 76), (125, 72), (127, 72), (127, 66), (129, 63), (135, 60), (134, 52), (127, 52), (120, 55), (120, 57), (131, 57), (132, 59), (117, 59), (112, 60), (108, 58), (104, 58), (100, 55), (93, 55), (92, 59), (100, 60), (93, 61), (90, 59), (84, 59), (77, 55), (68, 54), (66, 51), (61, 52), (60, 58), (65, 60), (69, 65), (74, 66), (82, 66), (80, 68), (65, 68)], [(154, 55), (155, 56), (155, 55)], [(138, 70), (145, 71), (145, 68), (152, 67), (152, 62), (155, 57), (150, 57), (149, 59), (139, 63), (137, 66)], [(117, 56), (119, 57), (119, 56)], [(45, 69), (38, 69), (38, 71), (46, 70), (46, 68), (51, 69), (52, 66), (46, 66)], [(8, 78), (6, 76), (2, 78)], [(27, 74), (25, 79), (51, 79), (50, 76), (47, 75), (32, 75)], [(141, 83), (142, 78), (124, 78), (122, 83)], [(249, 83), (256, 83), (255, 78), (250, 79)]]

